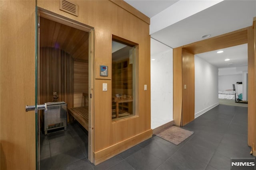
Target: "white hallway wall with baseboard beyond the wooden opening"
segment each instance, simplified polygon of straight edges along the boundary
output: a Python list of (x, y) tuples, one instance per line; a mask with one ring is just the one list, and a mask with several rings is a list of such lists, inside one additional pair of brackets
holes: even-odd
[(195, 118), (218, 104), (218, 68), (195, 55)]

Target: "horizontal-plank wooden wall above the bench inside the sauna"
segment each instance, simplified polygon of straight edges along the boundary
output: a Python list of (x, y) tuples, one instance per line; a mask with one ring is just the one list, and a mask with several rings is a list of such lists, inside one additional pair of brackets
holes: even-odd
[(74, 107), (84, 106), (83, 93), (88, 93), (88, 61), (74, 61)]

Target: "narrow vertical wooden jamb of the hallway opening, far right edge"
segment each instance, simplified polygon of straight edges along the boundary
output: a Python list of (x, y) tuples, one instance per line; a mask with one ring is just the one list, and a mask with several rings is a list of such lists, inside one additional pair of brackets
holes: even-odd
[(254, 59), (254, 31), (248, 28), (248, 145), (252, 147), (254, 134), (255, 110), (255, 59)]

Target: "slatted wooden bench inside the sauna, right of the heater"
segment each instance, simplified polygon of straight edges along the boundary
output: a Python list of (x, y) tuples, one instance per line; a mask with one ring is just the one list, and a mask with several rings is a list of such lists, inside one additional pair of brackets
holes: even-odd
[(83, 93), (84, 96), (84, 106), (83, 107), (73, 107), (68, 109), (68, 113), (74, 117), (87, 131), (89, 127), (88, 118), (88, 94)]

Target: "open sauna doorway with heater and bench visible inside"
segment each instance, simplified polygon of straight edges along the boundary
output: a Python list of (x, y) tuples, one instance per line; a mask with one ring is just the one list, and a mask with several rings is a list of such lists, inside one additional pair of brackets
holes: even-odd
[[(94, 30), (50, 12), (39, 10), (39, 15), (37, 103), (46, 104), (47, 111), (38, 114), (37, 167), (60, 168), (84, 159), (93, 162), (89, 96)], [(60, 109), (52, 111), (52, 106)]]

